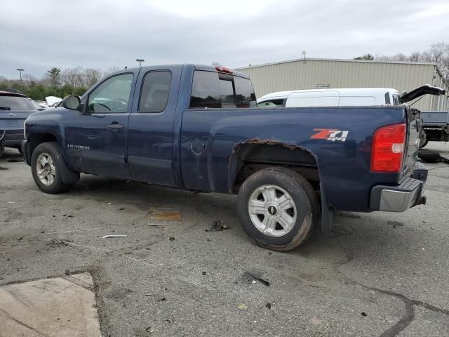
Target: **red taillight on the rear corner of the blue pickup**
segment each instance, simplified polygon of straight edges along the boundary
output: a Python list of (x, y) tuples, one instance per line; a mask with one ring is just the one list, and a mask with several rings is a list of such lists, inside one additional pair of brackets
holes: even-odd
[(405, 123), (382, 126), (375, 131), (371, 146), (371, 171), (401, 172), (406, 133)]

